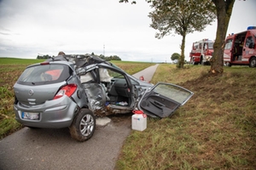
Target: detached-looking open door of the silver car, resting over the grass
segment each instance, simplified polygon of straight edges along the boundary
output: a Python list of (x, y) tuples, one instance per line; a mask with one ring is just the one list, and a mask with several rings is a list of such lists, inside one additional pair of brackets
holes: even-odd
[(188, 89), (175, 84), (159, 82), (143, 94), (138, 103), (138, 109), (148, 116), (172, 116), (173, 111), (184, 105), (193, 94)]

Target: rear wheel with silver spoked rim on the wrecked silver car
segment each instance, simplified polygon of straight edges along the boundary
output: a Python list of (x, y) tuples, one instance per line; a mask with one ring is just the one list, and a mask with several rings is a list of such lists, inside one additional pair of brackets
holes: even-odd
[(81, 109), (69, 127), (72, 138), (80, 142), (90, 139), (95, 128), (96, 118), (88, 109)]

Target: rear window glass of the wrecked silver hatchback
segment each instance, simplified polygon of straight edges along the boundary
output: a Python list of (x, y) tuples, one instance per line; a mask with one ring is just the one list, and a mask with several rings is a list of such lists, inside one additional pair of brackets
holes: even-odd
[(68, 65), (34, 65), (27, 67), (18, 79), (18, 83), (35, 85), (66, 81), (72, 74)]

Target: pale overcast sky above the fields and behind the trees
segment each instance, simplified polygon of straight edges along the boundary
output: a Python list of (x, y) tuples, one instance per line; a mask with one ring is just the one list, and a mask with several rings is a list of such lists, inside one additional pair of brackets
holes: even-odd
[[(256, 26), (256, 0), (236, 0), (227, 31)], [(38, 55), (103, 54), (124, 61), (171, 62), (181, 53), (182, 37), (154, 37), (144, 0), (0, 0), (0, 57), (36, 59)], [(204, 31), (188, 34), (185, 59), (192, 43), (214, 40), (217, 21)]]

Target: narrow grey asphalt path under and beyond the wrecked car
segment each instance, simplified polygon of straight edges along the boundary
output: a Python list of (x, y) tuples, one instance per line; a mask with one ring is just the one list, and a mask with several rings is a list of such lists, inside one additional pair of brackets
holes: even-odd
[[(157, 66), (148, 67), (134, 76), (143, 76), (150, 82)], [(96, 126), (92, 138), (83, 143), (72, 139), (68, 128), (24, 127), (0, 140), (0, 170), (112, 170), (131, 133), (131, 115), (110, 118), (110, 123)]]

